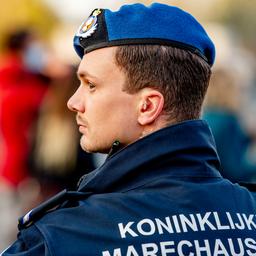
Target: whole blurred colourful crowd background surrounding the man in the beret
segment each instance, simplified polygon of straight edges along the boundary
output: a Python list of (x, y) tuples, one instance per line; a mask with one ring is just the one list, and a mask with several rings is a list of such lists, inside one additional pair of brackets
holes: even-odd
[[(0, 0), (0, 251), (16, 237), (17, 219), (105, 156), (79, 146), (66, 108), (78, 85), (72, 39), (92, 9), (116, 0)], [(212, 37), (216, 64), (202, 118), (215, 136), (222, 175), (256, 182), (256, 2), (159, 1), (192, 13)]]

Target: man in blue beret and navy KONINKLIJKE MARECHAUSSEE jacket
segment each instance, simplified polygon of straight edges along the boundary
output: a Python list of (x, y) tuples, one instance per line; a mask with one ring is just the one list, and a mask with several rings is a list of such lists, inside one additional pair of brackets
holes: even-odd
[(68, 107), (83, 149), (109, 157), (25, 215), (3, 255), (255, 255), (256, 203), (198, 119), (214, 62), (201, 25), (157, 3), (97, 9), (74, 44)]

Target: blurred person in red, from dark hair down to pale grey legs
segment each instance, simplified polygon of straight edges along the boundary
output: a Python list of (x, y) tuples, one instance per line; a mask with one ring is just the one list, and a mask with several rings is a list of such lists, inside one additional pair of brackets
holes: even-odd
[[(1, 248), (13, 239), (9, 237), (16, 226), (13, 220), (24, 203), (19, 190), (23, 184), (33, 183), (28, 169), (30, 138), (48, 79), (43, 75), (43, 48), (29, 30), (14, 31), (6, 37), (0, 63)], [(32, 188), (29, 195), (33, 194)]]

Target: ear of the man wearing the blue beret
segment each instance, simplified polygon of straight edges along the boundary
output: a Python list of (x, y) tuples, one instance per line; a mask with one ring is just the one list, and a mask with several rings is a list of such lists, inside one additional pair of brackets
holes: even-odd
[(142, 89), (139, 102), (139, 124), (153, 123), (162, 113), (163, 107), (164, 97), (161, 92), (152, 88)]

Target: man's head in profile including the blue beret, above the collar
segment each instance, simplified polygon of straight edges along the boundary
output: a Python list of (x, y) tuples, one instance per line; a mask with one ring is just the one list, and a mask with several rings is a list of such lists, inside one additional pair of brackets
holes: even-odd
[(96, 9), (74, 43), (81, 85), (68, 107), (84, 150), (108, 152), (115, 140), (128, 145), (199, 117), (214, 46), (188, 13), (162, 4)]

